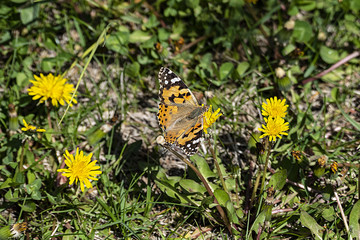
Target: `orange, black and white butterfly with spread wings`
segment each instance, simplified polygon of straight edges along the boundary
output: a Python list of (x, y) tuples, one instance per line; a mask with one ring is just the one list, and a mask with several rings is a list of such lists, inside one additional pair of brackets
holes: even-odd
[(159, 71), (159, 125), (171, 147), (180, 148), (186, 155), (194, 155), (202, 140), (203, 115), (200, 106), (186, 84), (170, 69)]

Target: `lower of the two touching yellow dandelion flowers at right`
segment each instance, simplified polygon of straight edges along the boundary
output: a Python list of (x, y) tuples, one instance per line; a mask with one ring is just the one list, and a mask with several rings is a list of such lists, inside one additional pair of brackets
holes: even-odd
[(266, 122), (266, 126), (263, 124), (262, 128), (259, 128), (259, 131), (264, 132), (260, 138), (269, 136), (270, 141), (276, 141), (276, 137), (281, 139), (281, 135), (288, 135), (285, 131), (289, 130), (289, 123), (285, 122), (285, 120), (281, 117), (276, 118), (264, 118)]

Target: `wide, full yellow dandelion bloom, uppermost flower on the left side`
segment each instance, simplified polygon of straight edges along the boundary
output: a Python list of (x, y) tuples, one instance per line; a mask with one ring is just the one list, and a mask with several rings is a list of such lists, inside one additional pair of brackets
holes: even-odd
[(31, 88), (28, 89), (29, 95), (34, 96), (33, 100), (40, 99), (40, 103), (51, 98), (51, 103), (53, 106), (65, 105), (65, 102), (72, 106), (72, 103), (77, 103), (76, 99), (73, 99), (72, 102), (71, 96), (75, 91), (74, 85), (66, 83), (66, 78), (61, 78), (60, 75), (54, 77), (51, 73), (47, 76), (44, 76), (42, 73), (40, 77), (34, 75), (35, 80), (30, 80), (34, 84)]

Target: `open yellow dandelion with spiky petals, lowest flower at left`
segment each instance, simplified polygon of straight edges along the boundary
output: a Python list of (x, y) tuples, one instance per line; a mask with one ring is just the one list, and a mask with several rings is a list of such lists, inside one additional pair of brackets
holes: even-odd
[(91, 161), (92, 153), (88, 156), (84, 156), (83, 151), (79, 153), (79, 148), (76, 149), (75, 157), (67, 150), (64, 154), (65, 164), (68, 169), (58, 169), (58, 172), (63, 172), (63, 176), (70, 178), (70, 185), (80, 182), (81, 191), (84, 192), (84, 185), (87, 188), (92, 188), (89, 180), (98, 180), (94, 176), (101, 174), (102, 172), (99, 166), (95, 166), (97, 160)]

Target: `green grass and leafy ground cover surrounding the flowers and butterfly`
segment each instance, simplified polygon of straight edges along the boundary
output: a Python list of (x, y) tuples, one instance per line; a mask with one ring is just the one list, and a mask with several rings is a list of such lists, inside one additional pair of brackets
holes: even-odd
[[(359, 239), (360, 3), (280, 3), (0, 3), (0, 239)], [(223, 114), (190, 162), (156, 142), (162, 66)], [(41, 73), (78, 103), (33, 100)], [(273, 96), (290, 129), (269, 144)], [(102, 171), (85, 192), (57, 172), (76, 148)]]

